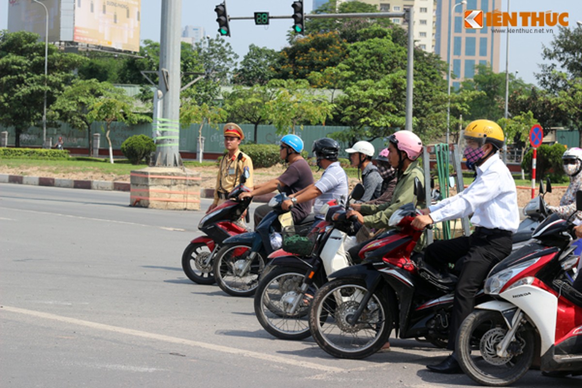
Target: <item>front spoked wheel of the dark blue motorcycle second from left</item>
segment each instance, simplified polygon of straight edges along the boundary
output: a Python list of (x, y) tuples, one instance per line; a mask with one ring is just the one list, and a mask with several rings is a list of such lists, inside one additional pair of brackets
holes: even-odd
[(214, 258), (214, 279), (225, 293), (232, 296), (251, 296), (258, 286), (258, 277), (265, 268), (259, 252), (251, 259), (251, 247), (226, 244)]

